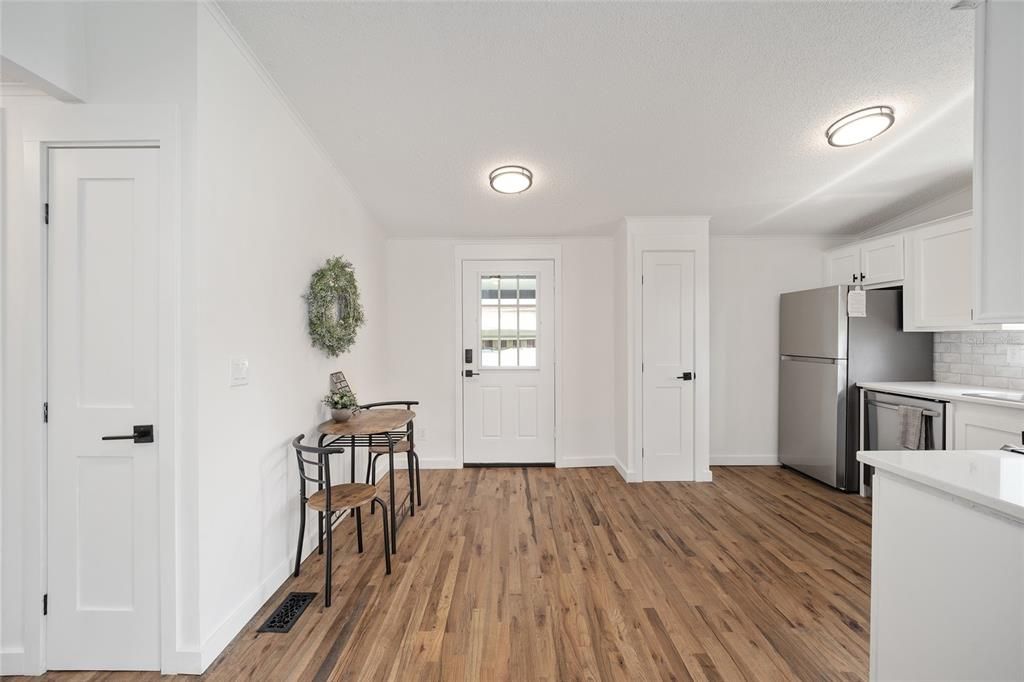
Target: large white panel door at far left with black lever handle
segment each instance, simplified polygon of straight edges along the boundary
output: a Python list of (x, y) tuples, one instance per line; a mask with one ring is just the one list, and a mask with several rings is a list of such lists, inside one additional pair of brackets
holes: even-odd
[(46, 662), (158, 670), (156, 148), (49, 153)]

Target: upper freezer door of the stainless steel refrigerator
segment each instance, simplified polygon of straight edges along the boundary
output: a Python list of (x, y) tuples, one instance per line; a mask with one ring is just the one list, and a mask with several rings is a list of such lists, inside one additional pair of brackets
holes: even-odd
[(824, 287), (779, 297), (779, 353), (846, 357), (848, 287)]

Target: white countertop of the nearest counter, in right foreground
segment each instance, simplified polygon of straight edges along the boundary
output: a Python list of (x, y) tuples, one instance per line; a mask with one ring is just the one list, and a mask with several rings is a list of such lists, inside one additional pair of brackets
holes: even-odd
[(1024, 455), (900, 450), (860, 452), (857, 459), (1024, 522)]

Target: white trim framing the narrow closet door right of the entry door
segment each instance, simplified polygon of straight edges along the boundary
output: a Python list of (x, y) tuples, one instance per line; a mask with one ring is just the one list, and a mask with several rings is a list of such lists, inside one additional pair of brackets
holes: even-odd
[[(644, 251), (692, 251), (694, 254), (693, 480), (710, 481), (711, 452), (711, 235), (707, 216), (627, 217), (626, 230), (626, 470), (643, 478), (643, 396), (641, 278)], [(701, 378), (702, 377), (702, 378)]]

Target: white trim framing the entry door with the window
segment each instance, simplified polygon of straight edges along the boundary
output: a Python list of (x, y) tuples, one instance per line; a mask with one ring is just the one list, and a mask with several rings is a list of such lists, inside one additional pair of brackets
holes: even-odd
[[(559, 456), (558, 436), (562, 423), (562, 247), (555, 242), (457, 242), (454, 246), (453, 289), (457, 292), (455, 305), (455, 338), (453, 357), (462, 357), (462, 267), (467, 260), (550, 260), (555, 268), (555, 466), (562, 466)], [(456, 367), (462, 369), (462, 363)], [(455, 464), (461, 468), (465, 463), (463, 443), (463, 377), (457, 372), (455, 377)]]

